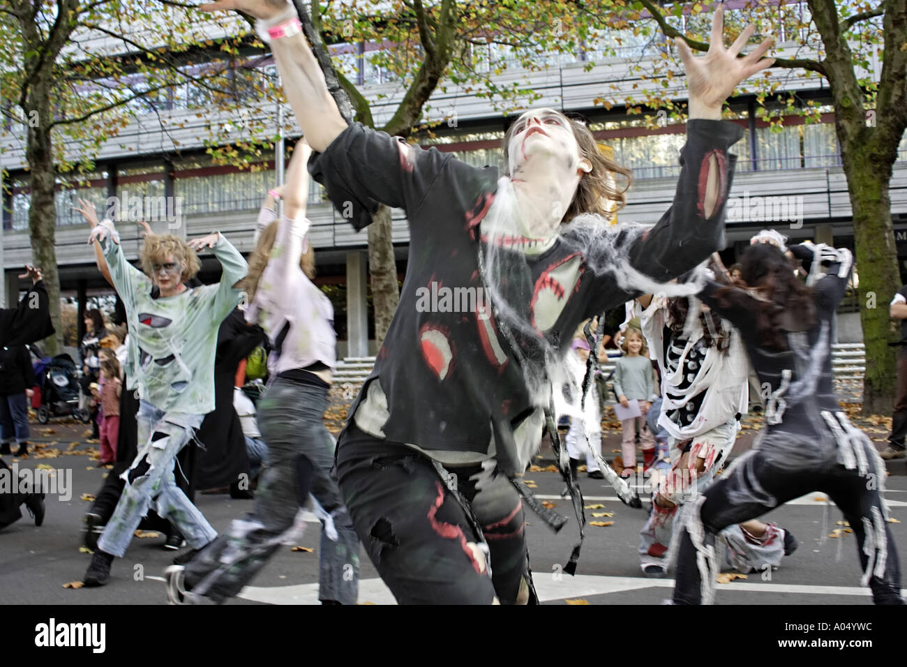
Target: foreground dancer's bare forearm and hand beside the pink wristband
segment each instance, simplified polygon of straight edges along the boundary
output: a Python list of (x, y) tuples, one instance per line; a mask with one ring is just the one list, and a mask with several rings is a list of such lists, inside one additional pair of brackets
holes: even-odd
[[(278, 25), (281, 19), (297, 16), (288, 0), (219, 0), (200, 5), (199, 9), (205, 12), (235, 9), (254, 16), (259, 25)], [(302, 133), (315, 151), (323, 152), (346, 129), (346, 121), (327, 90), (325, 75), (321, 73), (305, 35), (297, 33), (272, 39), (271, 52), (277, 60), (284, 93)]]

